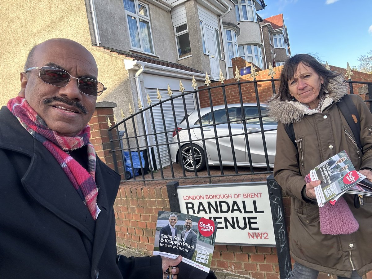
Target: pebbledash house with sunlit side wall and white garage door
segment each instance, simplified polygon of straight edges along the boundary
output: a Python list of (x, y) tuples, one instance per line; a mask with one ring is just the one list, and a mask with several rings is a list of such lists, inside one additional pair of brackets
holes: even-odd
[[(182, 94), (180, 81), (184, 92), (190, 92), (193, 78), (200, 86), (206, 74), (215, 81), (220, 73), (233, 77), (231, 58), (241, 56), (265, 68), (256, 14), (265, 6), (263, 0), (78, 0), (63, 4), (47, 0), (16, 6), (4, 0), (1, 8), (8, 16), (0, 19), (4, 34), (0, 65), (12, 67), (0, 77), (6, 92), (1, 105), (19, 91), (19, 72), (28, 51), (56, 37), (73, 39), (92, 52), (99, 80), (108, 88), (97, 101), (115, 102), (118, 119), (121, 111), (128, 115), (131, 109), (136, 112), (147, 106), (148, 98), (158, 102), (158, 92), (162, 98), (170, 97), (169, 89), (172, 96)], [(151, 134), (155, 128), (164, 141), (171, 141), (171, 133), (165, 131), (172, 131), (175, 124), (167, 122), (164, 127), (163, 118), (174, 112), (179, 122), (185, 110), (198, 105), (195, 98), (185, 96), (186, 108), (175, 101), (174, 109), (163, 108), (164, 116), (156, 111), (147, 115), (141, 129)]]

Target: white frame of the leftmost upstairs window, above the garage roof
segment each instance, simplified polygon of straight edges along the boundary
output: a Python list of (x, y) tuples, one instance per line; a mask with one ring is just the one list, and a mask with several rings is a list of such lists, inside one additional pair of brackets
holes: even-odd
[[(149, 9), (149, 6), (148, 4), (145, 4), (145, 3), (142, 3), (141, 1), (138, 1), (138, 0), (132, 0), (134, 1), (134, 8), (135, 8), (135, 13), (133, 12), (130, 12), (128, 10), (125, 9), (125, 3), (124, 3), (125, 0), (123, 0), (123, 4), (124, 4), (124, 10), (125, 10), (125, 15), (126, 15), (126, 23), (128, 25), (128, 33), (129, 33), (129, 39), (131, 41), (131, 47), (137, 51), (141, 51), (141, 52), (145, 52), (145, 53), (148, 53), (148, 54), (155, 54), (155, 48), (154, 48), (154, 40), (153, 40), (153, 33), (152, 33), (152, 28), (151, 28), (151, 21), (150, 21), (150, 9)], [(147, 10), (147, 16), (144, 16), (144, 15), (141, 15), (140, 12), (139, 12), (139, 9), (138, 9), (138, 4), (144, 6)], [(138, 30), (138, 37), (139, 37), (139, 40), (140, 40), (140, 48), (138, 47), (135, 47), (132, 45), (132, 38), (131, 38), (131, 30), (129, 28), (129, 22), (128, 22), (128, 16), (131, 16), (133, 18), (136, 19), (136, 22), (137, 22), (137, 30)], [(140, 29), (140, 19), (145, 21), (145, 22), (148, 22), (148, 25), (149, 25), (149, 36), (150, 36), (150, 48), (152, 49), (152, 52), (150, 51), (145, 51), (144, 50), (144, 39), (142, 38), (142, 34), (141, 34), (141, 29)]]

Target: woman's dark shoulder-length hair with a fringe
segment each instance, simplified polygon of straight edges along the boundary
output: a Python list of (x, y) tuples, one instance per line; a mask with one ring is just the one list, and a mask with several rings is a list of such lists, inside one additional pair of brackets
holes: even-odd
[(314, 57), (309, 54), (296, 54), (285, 61), (285, 64), (280, 74), (280, 86), (279, 93), (274, 97), (274, 99), (279, 98), (282, 101), (292, 100), (291, 94), (289, 94), (288, 81), (291, 80), (296, 73), (298, 64), (302, 64), (312, 68), (315, 73), (320, 77), (323, 77), (324, 84), (320, 90), (320, 96), (323, 96), (324, 89), (328, 87), (328, 83), (337, 83), (334, 78), (339, 76), (339, 73), (334, 71), (328, 71), (322, 64), (320, 64)]

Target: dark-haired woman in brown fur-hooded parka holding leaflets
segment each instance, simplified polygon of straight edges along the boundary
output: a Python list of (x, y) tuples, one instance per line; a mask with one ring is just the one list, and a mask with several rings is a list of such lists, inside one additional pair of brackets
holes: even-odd
[[(372, 197), (364, 197), (363, 205), (355, 208), (354, 195), (344, 194), (359, 229), (322, 234), (314, 192), (320, 181), (304, 181), (311, 169), (343, 150), (355, 169), (372, 180), (372, 115), (359, 96), (350, 96), (359, 112), (362, 152), (336, 105), (347, 90), (337, 73), (308, 54), (297, 54), (283, 66), (279, 94), (270, 102), (270, 115), (278, 121), (274, 177), (291, 196), (289, 238), (295, 264), (289, 278), (316, 279), (320, 271), (360, 279), (372, 270)], [(298, 148), (284, 128), (290, 123)]]

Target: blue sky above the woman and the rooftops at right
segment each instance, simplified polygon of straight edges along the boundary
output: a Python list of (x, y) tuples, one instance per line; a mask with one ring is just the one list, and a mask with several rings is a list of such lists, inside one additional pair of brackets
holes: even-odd
[(358, 66), (372, 49), (372, 0), (265, 0), (262, 17), (283, 14), (292, 55), (315, 54), (328, 64)]

